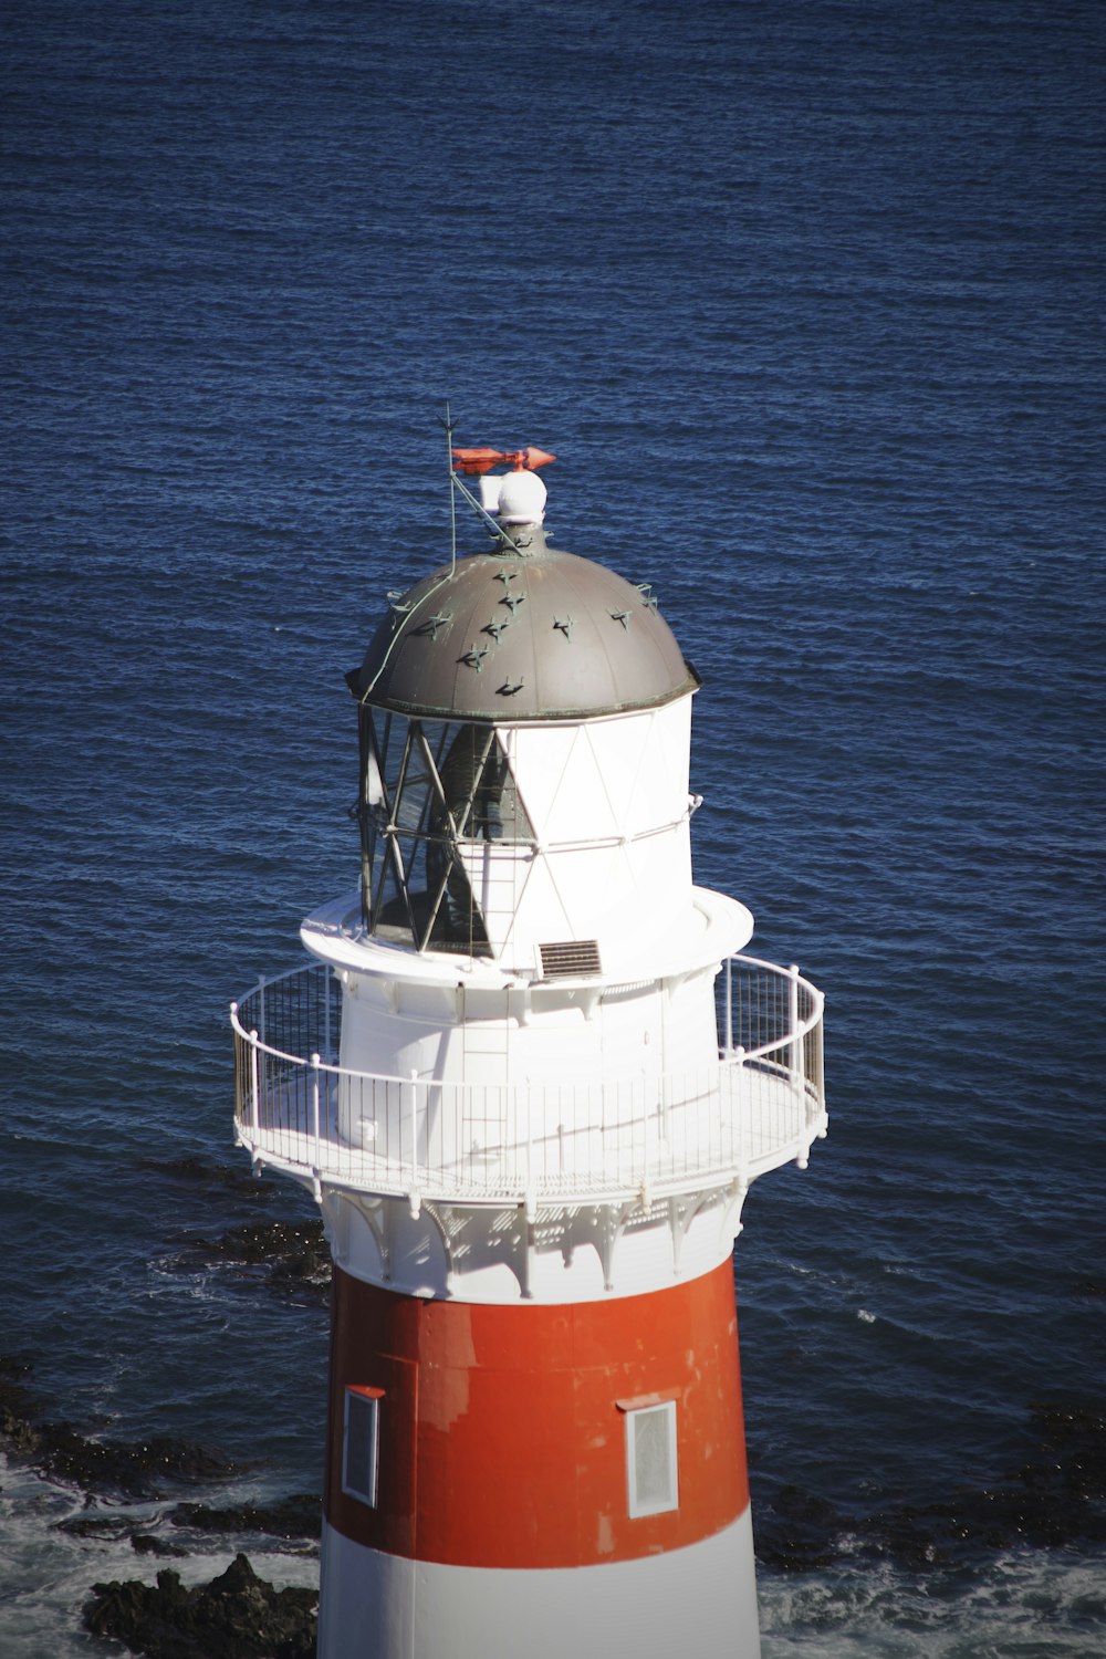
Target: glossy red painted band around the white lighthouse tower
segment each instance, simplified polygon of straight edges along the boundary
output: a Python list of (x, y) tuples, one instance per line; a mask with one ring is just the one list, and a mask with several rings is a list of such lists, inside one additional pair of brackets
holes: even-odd
[[(375, 1506), (343, 1491), (352, 1387), (383, 1390)], [(630, 1516), (627, 1410), (668, 1400), (678, 1505)], [(454, 1566), (585, 1566), (696, 1543), (746, 1505), (730, 1262), (555, 1307), (424, 1301), (335, 1269), (325, 1510), (347, 1538)]]

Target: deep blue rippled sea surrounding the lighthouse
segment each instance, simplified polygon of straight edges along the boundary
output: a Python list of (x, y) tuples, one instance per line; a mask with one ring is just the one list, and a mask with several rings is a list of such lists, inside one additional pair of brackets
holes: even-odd
[[(1078, 1472), (1045, 1531), (925, 1531), (1061, 1480), (1035, 1405), (1106, 1408), (1106, 10), (2, 28), (0, 1352), (249, 1465), (187, 1496), (320, 1490), (325, 1301), (191, 1243), (312, 1214), (232, 1146), (227, 1004), (357, 883), (343, 674), (448, 554), (448, 403), (653, 582), (698, 879), (827, 992), (829, 1138), (735, 1253), (766, 1659), (1106, 1651)], [(0, 1485), (0, 1651), (121, 1652), (81, 1604), (166, 1563), (60, 1523), (179, 1493)]]

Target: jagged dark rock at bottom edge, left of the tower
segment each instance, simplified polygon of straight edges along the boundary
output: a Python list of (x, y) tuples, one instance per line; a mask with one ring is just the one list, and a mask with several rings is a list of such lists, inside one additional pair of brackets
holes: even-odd
[(158, 1584), (95, 1584), (85, 1627), (148, 1659), (313, 1659), (313, 1589), (274, 1589), (244, 1554), (211, 1584), (186, 1589), (164, 1568)]

